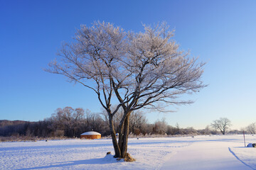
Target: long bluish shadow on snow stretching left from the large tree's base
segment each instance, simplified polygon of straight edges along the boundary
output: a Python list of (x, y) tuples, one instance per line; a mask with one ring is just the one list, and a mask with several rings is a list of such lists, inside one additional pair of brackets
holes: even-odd
[(85, 159), (79, 161), (69, 161), (69, 162), (55, 162), (48, 166), (36, 166), (31, 168), (16, 169), (16, 170), (28, 170), (28, 169), (50, 169), (50, 168), (61, 168), (64, 166), (75, 166), (75, 165), (88, 165), (88, 164), (112, 164), (117, 163), (117, 160), (111, 157), (103, 157), (97, 159)]

